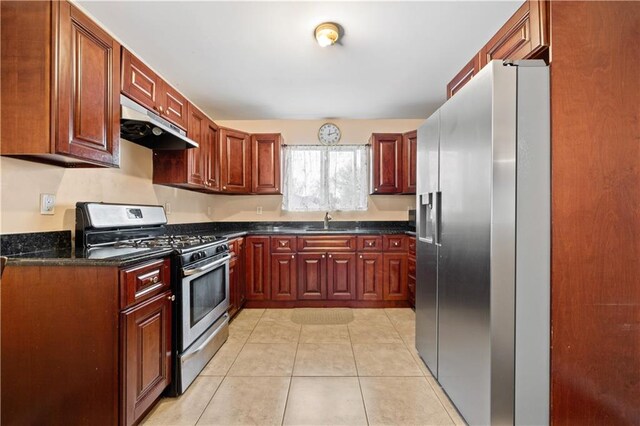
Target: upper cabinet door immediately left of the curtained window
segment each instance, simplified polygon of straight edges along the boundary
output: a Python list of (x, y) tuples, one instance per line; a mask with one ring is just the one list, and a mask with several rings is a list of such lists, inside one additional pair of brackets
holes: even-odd
[(251, 135), (251, 192), (280, 194), (280, 134)]

